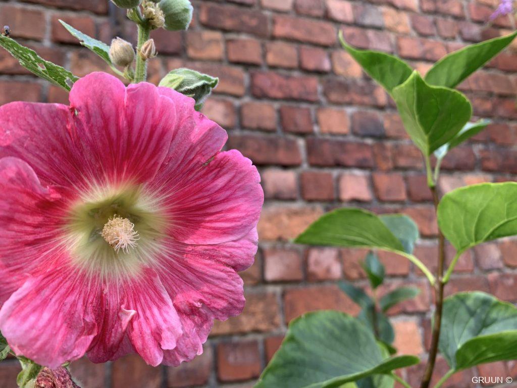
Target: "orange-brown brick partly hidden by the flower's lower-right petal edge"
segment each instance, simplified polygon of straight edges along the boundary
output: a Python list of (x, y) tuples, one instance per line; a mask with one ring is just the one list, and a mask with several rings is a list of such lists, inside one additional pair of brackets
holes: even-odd
[(210, 335), (227, 335), (248, 332), (270, 332), (280, 326), (280, 306), (276, 294), (245, 294), (246, 305), (240, 315), (226, 321), (214, 321)]

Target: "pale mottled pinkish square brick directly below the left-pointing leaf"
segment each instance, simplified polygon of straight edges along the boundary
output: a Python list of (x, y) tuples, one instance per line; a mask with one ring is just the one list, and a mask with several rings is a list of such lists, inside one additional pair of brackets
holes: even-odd
[(337, 280), (342, 277), (341, 259), (336, 248), (311, 248), (307, 254), (310, 281)]

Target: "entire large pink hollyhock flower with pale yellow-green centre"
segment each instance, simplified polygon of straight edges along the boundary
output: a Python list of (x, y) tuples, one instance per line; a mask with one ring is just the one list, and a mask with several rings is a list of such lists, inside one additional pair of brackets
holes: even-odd
[(194, 100), (93, 73), (70, 106), (0, 107), (0, 330), (56, 368), (201, 354), (244, 306), (260, 177)]

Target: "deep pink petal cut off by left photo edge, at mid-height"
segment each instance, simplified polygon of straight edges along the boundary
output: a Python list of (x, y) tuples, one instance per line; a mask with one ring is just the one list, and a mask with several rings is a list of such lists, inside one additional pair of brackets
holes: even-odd
[(56, 247), (60, 195), (43, 187), (23, 160), (0, 159), (0, 305)]

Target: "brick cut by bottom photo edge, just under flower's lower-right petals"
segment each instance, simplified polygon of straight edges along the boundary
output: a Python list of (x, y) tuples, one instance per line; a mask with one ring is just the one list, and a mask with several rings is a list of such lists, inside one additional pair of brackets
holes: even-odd
[(176, 367), (167, 367), (167, 388), (189, 388), (205, 385), (210, 378), (214, 352), (209, 345), (205, 345), (203, 354), (195, 357), (188, 363)]

